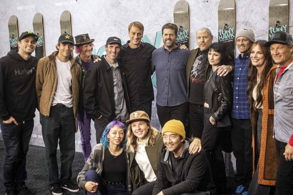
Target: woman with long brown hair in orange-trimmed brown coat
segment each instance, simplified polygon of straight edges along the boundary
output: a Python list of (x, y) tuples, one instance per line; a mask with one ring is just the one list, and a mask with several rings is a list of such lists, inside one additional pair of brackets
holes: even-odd
[[(256, 41), (249, 51), (247, 65), (249, 109), (253, 129), (253, 179), (248, 194), (270, 194), (275, 190), (279, 158), (273, 138), (273, 82), (277, 65), (273, 66), (270, 48), (265, 40)], [(270, 192), (271, 191), (271, 192)]]

